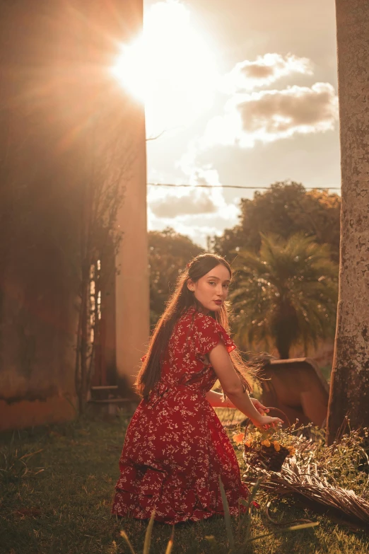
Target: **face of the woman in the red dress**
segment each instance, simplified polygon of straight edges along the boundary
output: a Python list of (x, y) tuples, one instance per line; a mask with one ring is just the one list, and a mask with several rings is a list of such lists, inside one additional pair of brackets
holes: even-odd
[(195, 298), (204, 308), (204, 313), (219, 311), (228, 296), (230, 272), (223, 265), (216, 265), (196, 283), (188, 279), (187, 287), (194, 293)]

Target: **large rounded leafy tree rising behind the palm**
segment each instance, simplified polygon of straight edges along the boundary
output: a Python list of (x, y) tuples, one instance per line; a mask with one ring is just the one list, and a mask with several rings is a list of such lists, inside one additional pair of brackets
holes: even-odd
[(300, 183), (274, 183), (266, 192), (255, 192), (253, 200), (242, 199), (240, 223), (225, 229), (212, 241), (212, 249), (232, 260), (235, 248), (259, 251), (260, 233), (276, 233), (287, 238), (303, 231), (320, 244), (329, 244), (332, 260), (339, 260), (338, 195), (327, 191), (307, 191)]

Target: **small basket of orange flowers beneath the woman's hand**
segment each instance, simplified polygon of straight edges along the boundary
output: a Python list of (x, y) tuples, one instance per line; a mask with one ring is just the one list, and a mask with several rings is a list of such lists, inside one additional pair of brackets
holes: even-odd
[[(283, 416), (286, 417), (285, 414)], [(288, 429), (271, 427), (261, 430), (246, 425), (245, 432), (233, 435), (233, 441), (243, 446), (242, 456), (247, 466), (278, 472), (281, 471), (286, 458), (295, 454), (295, 442), (298, 437), (291, 434), (293, 429), (294, 426), (291, 427), (289, 422)]]

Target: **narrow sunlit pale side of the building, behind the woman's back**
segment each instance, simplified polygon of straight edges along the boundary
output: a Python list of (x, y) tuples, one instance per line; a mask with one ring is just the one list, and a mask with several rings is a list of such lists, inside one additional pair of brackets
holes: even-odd
[[(142, 25), (142, 0), (129, 0), (136, 14), (137, 34)], [(127, 4), (129, 2), (127, 1)], [(131, 28), (131, 34), (132, 28)], [(124, 203), (118, 214), (123, 232), (116, 262), (117, 373), (129, 387), (139, 369), (149, 335), (148, 243), (146, 222), (146, 131), (144, 106), (132, 99), (133, 156)]]

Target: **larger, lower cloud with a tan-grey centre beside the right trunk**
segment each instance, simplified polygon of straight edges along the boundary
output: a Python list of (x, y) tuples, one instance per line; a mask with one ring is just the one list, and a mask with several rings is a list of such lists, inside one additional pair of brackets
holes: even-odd
[(209, 121), (201, 146), (251, 148), (256, 142), (334, 129), (337, 119), (338, 98), (329, 83), (242, 94), (228, 101), (222, 116)]

